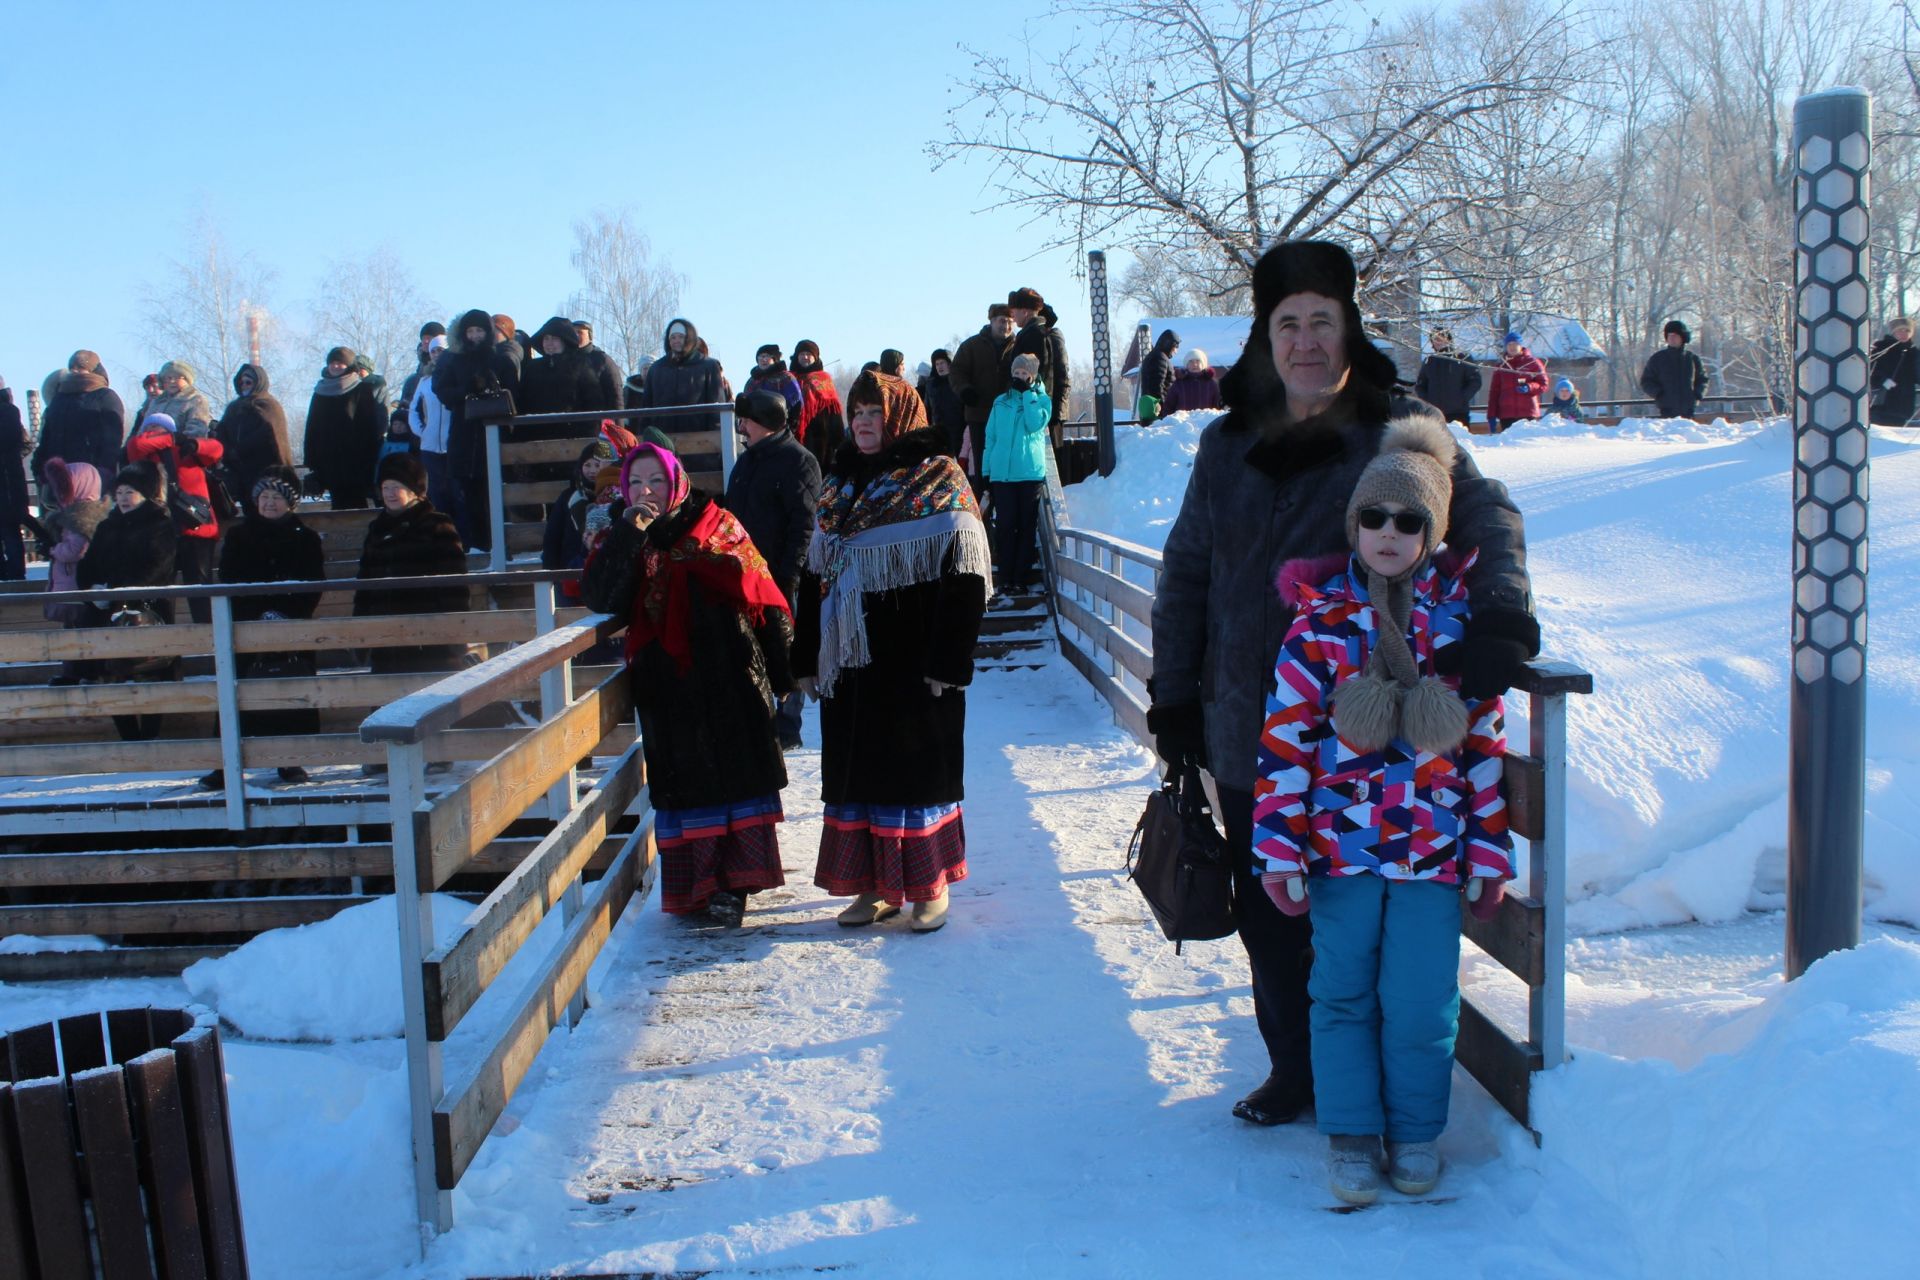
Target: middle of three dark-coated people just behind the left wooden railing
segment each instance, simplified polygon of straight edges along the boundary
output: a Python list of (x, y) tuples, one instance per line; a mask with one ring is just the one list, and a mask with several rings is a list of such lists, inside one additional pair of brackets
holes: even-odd
[[(326, 553), (321, 535), (300, 522), (300, 476), (292, 466), (269, 466), (253, 482), (246, 520), (227, 530), (221, 547), (221, 581), (321, 581), (326, 578)], [(282, 622), (311, 618), (321, 603), (319, 591), (284, 591), (278, 595), (236, 595), (234, 622)], [(311, 649), (286, 652), (250, 652), (240, 658), (242, 679), (284, 679), (313, 676), (319, 666)], [(300, 737), (321, 731), (321, 712), (311, 706), (276, 712), (240, 712), (242, 737)], [(303, 783), (307, 771), (298, 764), (280, 766), (282, 783)], [(213, 770), (200, 779), (207, 791), (227, 785), (227, 775)]]

